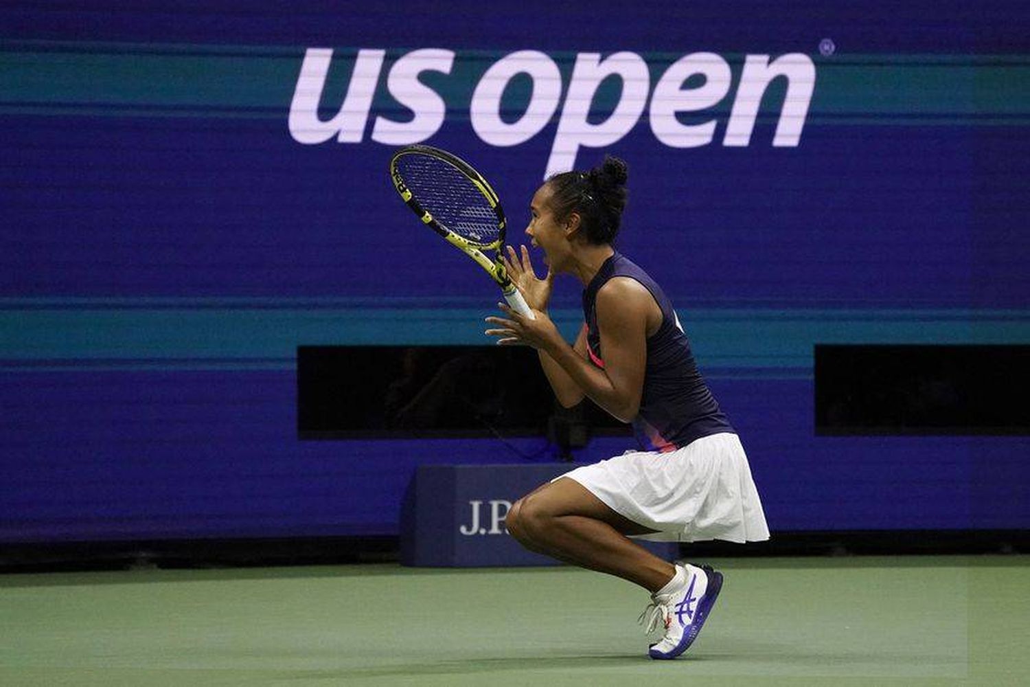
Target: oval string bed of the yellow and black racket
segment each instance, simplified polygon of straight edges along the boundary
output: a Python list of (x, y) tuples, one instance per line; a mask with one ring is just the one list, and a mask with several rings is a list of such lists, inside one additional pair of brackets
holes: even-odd
[(423, 154), (404, 156), (397, 166), (415, 200), (441, 226), (478, 244), (490, 244), (502, 238), (500, 221), (489, 201), (457, 169)]

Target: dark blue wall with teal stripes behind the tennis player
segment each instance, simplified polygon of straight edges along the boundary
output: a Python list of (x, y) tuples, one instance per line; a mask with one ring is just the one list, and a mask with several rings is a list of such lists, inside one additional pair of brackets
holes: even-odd
[[(428, 123), (403, 135), (472, 161), (517, 230), (555, 150), (572, 159), (577, 63), (620, 51), (644, 79), (587, 89), (587, 122), (642, 91), (639, 115), (575, 163), (629, 162), (620, 247), (676, 303), (772, 529), (1030, 527), (1026, 437), (817, 437), (813, 407), (817, 343), (1030, 343), (1019, 3), (105, 4), (0, 8), (0, 540), (396, 534), (417, 465), (521, 460), (486, 439), (299, 441), (296, 347), (484, 343), (496, 293), (397, 199), (376, 127)], [(382, 51), (359, 141), (289, 126), (319, 48), (322, 121)], [(390, 85), (423, 48), (453, 53), (421, 73), (432, 93)], [(470, 111), (515, 50), (559, 80), (512, 78), (501, 121), (554, 111), (499, 147)], [(713, 78), (680, 85), (725, 95), (676, 114), (714, 123), (710, 141), (671, 147), (657, 84), (698, 53)], [(727, 145), (756, 60), (799, 67)], [(775, 145), (781, 121), (798, 135)], [(557, 288), (572, 336), (579, 290)]]

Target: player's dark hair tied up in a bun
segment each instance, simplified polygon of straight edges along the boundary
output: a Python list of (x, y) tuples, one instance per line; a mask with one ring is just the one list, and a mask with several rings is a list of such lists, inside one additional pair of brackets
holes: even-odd
[(589, 172), (561, 172), (551, 176), (551, 210), (559, 220), (578, 212), (590, 243), (612, 243), (626, 207), (626, 163), (605, 157)]

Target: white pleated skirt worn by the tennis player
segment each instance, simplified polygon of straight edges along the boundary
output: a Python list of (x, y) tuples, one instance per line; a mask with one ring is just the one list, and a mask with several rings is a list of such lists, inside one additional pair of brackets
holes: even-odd
[(636, 539), (744, 543), (769, 538), (748, 456), (735, 434), (702, 437), (667, 453), (629, 451), (561, 477), (656, 530)]

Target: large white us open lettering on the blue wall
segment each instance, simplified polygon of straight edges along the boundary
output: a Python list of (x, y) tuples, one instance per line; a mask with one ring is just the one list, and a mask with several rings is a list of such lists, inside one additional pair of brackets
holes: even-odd
[[(362, 48), (353, 67), (343, 102), (329, 119), (318, 115), (333, 63), (333, 49), (309, 47), (301, 65), (289, 106), (290, 136), (299, 143), (316, 145), (336, 138), (339, 143), (360, 143), (372, 115), (376, 90), (382, 79), (386, 50)], [(384, 145), (408, 145), (431, 138), (443, 126), (447, 104), (443, 97), (419, 80), (427, 72), (450, 75), (457, 55), (442, 48), (415, 49), (401, 56), (386, 74), (386, 90), (412, 116), (407, 121), (377, 114), (371, 138)], [(471, 57), (462, 59), (472, 59)], [(502, 118), (502, 99), (516, 77), (525, 75), (533, 91), (528, 103), (514, 121)], [(607, 79), (617, 79), (621, 93), (611, 112), (600, 122), (591, 121), (591, 104)], [(732, 94), (722, 145), (744, 147), (752, 132), (762, 96), (774, 79), (786, 80), (786, 96), (777, 119), (774, 146), (796, 146), (804, 128), (816, 87), (816, 66), (801, 53), (778, 58), (745, 57), (736, 91)], [(581, 147), (605, 147), (625, 136), (647, 111), (655, 138), (673, 148), (709, 145), (715, 138), (715, 117), (686, 124), (680, 115), (714, 108), (733, 88), (729, 62), (715, 53), (691, 53), (668, 65), (652, 89), (647, 61), (636, 53), (619, 51), (576, 55), (568, 84), (558, 64), (545, 53), (517, 50), (491, 64), (475, 83), (469, 99), (468, 118), (484, 143), (499, 147), (519, 145), (557, 121), (544, 177), (572, 169)], [(466, 94), (467, 95), (467, 94)], [(509, 119), (511, 117), (508, 117)]]

